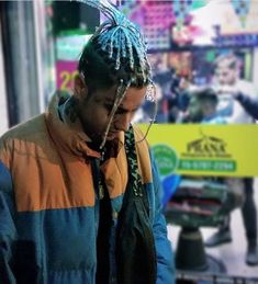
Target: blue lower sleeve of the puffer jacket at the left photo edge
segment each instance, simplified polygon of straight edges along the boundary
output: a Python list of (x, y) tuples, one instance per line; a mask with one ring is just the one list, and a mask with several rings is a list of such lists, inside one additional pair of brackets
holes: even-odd
[(0, 160), (0, 283), (16, 283), (10, 265), (14, 238), (12, 180)]

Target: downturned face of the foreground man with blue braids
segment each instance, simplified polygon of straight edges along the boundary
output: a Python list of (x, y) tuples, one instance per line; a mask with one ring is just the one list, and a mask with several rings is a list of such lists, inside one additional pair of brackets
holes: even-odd
[[(79, 98), (79, 116), (86, 134), (92, 141), (101, 143), (110, 121), (110, 114), (116, 95), (116, 86), (109, 90), (96, 90), (88, 93), (87, 88), (81, 90)], [(106, 140), (119, 136), (120, 132), (128, 128), (136, 110), (141, 106), (147, 88), (128, 88), (117, 107)]]

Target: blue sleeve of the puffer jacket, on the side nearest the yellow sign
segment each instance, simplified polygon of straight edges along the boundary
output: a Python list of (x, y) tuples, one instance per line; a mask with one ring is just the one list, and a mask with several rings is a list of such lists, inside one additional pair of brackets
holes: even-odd
[[(153, 231), (157, 255), (157, 282), (156, 284), (173, 284), (176, 282), (175, 259), (171, 242), (167, 237), (167, 224), (162, 215), (160, 202), (160, 180), (158, 169), (150, 152), (153, 168), (153, 191), (150, 191), (150, 212), (153, 212)], [(153, 193), (153, 194), (152, 194)], [(152, 216), (150, 216), (152, 217)]]

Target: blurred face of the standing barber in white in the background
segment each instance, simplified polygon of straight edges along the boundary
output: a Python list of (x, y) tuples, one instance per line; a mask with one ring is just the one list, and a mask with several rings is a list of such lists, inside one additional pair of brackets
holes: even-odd
[(220, 84), (232, 86), (238, 78), (238, 70), (231, 67), (231, 61), (225, 59), (217, 64), (215, 76)]

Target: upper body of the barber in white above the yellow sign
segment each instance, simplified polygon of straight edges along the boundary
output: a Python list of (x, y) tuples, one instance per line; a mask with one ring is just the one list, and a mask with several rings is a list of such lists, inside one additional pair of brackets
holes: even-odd
[(258, 90), (251, 82), (240, 78), (239, 58), (233, 53), (223, 54), (216, 58), (214, 67), (213, 88), (220, 94), (217, 111), (228, 123), (254, 123)]

